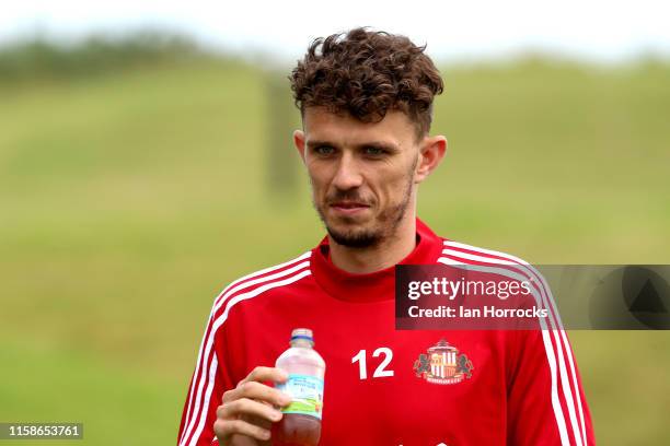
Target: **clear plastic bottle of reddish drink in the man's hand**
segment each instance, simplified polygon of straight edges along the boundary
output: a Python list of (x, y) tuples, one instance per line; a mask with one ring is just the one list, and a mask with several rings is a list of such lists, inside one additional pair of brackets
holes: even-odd
[(308, 328), (296, 328), (290, 345), (276, 363), (289, 378), (276, 387), (289, 394), (292, 401), (281, 409), (284, 416), (273, 425), (273, 445), (316, 446), (321, 437), (325, 362), (313, 349), (314, 338)]

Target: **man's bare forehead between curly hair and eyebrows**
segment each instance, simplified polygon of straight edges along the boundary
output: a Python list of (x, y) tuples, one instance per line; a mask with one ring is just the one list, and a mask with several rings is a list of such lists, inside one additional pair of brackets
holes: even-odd
[(308, 107), (302, 124), (305, 139), (330, 141), (342, 145), (360, 145), (370, 141), (408, 145), (415, 137), (415, 127), (407, 115), (389, 110), (379, 122), (362, 122), (349, 114), (334, 114), (324, 107)]

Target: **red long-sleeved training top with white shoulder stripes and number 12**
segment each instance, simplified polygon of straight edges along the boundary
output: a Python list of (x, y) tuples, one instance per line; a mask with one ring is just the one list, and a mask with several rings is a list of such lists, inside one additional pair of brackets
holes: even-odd
[[(400, 263), (534, 271), (516, 257), (443, 239), (418, 219), (416, 227), (417, 245)], [(274, 366), (299, 327), (313, 330), (326, 363), (322, 446), (594, 444), (559, 319), (550, 330), (396, 331), (394, 271), (345, 272), (331, 262), (325, 237), (294, 260), (231, 283), (207, 324), (178, 445), (217, 445), (222, 394), (255, 366)], [(551, 294), (540, 292), (551, 306)], [(426, 365), (435, 352), (464, 355), (466, 368), (454, 375)]]

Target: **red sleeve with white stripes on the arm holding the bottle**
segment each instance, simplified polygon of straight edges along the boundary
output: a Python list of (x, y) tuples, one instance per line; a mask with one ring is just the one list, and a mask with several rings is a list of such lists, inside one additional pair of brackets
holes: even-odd
[(184, 402), (177, 446), (219, 445), (213, 434), (217, 408), (221, 404), (223, 392), (234, 386), (229, 377), (227, 364), (221, 361), (223, 333), (220, 315), (217, 318), (216, 314), (215, 306), (205, 329)]

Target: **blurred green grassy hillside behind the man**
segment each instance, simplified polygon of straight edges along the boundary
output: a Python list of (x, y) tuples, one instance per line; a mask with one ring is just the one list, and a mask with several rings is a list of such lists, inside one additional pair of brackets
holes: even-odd
[[(289, 70), (155, 36), (0, 51), (0, 420), (174, 444), (216, 294), (323, 235)], [(535, 263), (670, 261), (670, 63), (441, 72), (449, 151), (419, 195), (437, 233)], [(670, 333), (570, 339), (599, 444), (670, 444)]]

